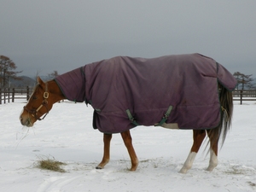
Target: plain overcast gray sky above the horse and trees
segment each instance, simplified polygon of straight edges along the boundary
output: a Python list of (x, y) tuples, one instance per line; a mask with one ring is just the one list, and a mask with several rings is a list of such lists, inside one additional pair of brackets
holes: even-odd
[(198, 52), (256, 77), (255, 10), (255, 0), (0, 0), (0, 55), (33, 77)]

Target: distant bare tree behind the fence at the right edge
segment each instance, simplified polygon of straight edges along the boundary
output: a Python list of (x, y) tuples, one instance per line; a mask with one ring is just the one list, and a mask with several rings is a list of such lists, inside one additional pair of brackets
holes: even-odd
[(237, 89), (245, 90), (247, 89), (255, 89), (255, 84), (253, 84), (252, 74), (246, 75), (240, 72), (236, 72), (233, 74), (237, 80)]

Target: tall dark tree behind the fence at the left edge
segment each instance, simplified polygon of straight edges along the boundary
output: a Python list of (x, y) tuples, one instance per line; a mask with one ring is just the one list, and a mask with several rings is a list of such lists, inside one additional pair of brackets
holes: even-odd
[(15, 62), (11, 61), (9, 57), (0, 55), (0, 87), (8, 87), (10, 79), (22, 80), (17, 77), (17, 74), (22, 71), (15, 72), (16, 68)]

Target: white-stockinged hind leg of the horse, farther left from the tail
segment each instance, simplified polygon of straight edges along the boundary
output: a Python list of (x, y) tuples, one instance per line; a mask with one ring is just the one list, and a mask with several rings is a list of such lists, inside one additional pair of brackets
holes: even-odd
[(183, 168), (179, 172), (186, 173), (192, 167), (193, 162), (195, 160), (195, 156), (196, 156), (199, 148), (201, 147), (201, 143), (203, 142), (206, 135), (207, 134), (206, 134), (205, 130), (198, 130), (198, 131), (193, 130), (194, 143), (189, 152), (189, 156), (188, 156), (187, 160), (184, 162)]

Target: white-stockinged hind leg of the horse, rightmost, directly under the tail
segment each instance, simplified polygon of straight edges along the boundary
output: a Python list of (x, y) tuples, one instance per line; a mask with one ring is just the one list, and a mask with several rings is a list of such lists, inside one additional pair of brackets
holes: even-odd
[(210, 131), (207, 131), (207, 134), (210, 139), (210, 160), (207, 171), (212, 172), (212, 170), (218, 166), (218, 139), (212, 138)]

